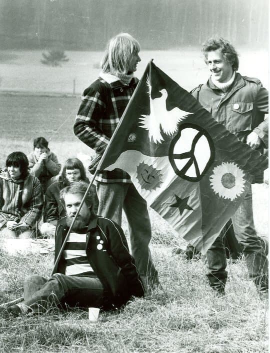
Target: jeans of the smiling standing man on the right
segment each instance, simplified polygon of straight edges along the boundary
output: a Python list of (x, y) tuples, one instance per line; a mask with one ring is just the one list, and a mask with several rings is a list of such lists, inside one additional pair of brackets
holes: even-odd
[[(245, 261), (251, 278), (258, 291), (268, 289), (268, 259), (256, 234), (253, 212), (251, 186), (243, 202), (232, 217), (235, 237), (243, 249)], [(207, 272), (211, 287), (223, 291), (227, 278), (226, 255), (221, 235), (219, 235), (206, 252)]]

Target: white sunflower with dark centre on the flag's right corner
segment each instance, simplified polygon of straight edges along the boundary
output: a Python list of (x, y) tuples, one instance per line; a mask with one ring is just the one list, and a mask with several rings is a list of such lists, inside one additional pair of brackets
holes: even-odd
[(233, 201), (244, 191), (244, 173), (234, 163), (224, 162), (213, 169), (210, 186), (224, 199)]

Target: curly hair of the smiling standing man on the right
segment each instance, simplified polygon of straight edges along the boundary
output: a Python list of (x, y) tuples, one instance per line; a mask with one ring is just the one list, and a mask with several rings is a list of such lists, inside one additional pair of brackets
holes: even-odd
[(207, 64), (208, 52), (212, 52), (217, 49), (221, 50), (225, 61), (232, 66), (232, 70), (237, 71), (239, 67), (238, 54), (229, 41), (226, 41), (223, 38), (211, 38), (203, 44), (201, 51), (204, 56), (205, 64)]

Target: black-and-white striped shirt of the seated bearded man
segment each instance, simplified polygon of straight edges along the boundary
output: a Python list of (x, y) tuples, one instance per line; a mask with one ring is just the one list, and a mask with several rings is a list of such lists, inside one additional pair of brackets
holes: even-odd
[(85, 241), (86, 233), (69, 234), (63, 251), (66, 275), (83, 277), (94, 273), (86, 257)]

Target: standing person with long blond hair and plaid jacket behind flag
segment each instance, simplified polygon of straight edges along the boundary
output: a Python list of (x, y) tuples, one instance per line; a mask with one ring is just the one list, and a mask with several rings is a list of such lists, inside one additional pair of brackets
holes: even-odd
[[(74, 133), (97, 153), (95, 163), (90, 166), (92, 172), (138, 83), (133, 73), (140, 62), (139, 50), (138, 42), (127, 33), (111, 38), (101, 61), (102, 72), (83, 92)], [(131, 252), (145, 289), (146, 286), (159, 286), (148, 247), (151, 225), (145, 200), (138, 194), (129, 175), (121, 169), (98, 173), (95, 180), (99, 198), (98, 215), (121, 225), (124, 210)]]

